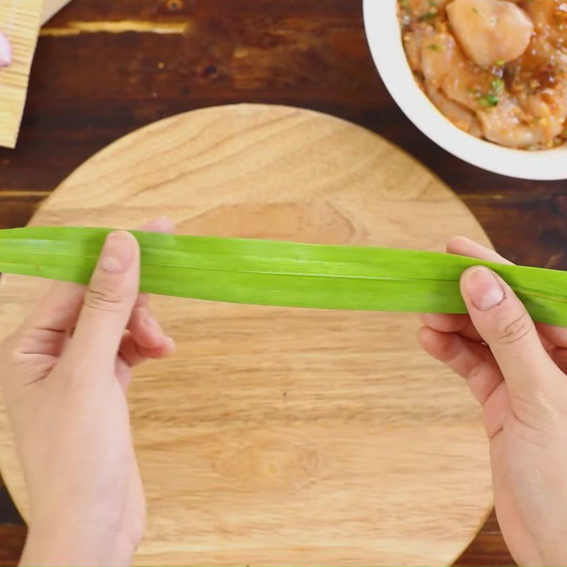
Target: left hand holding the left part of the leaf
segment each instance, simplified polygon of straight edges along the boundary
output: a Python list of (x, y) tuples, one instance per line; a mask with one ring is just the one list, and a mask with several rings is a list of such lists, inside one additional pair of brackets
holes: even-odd
[[(145, 227), (172, 232), (167, 219)], [(174, 349), (138, 296), (140, 248), (106, 240), (89, 287), (55, 283), (0, 346), (0, 382), (30, 498), (23, 565), (130, 563), (145, 499), (125, 391)]]

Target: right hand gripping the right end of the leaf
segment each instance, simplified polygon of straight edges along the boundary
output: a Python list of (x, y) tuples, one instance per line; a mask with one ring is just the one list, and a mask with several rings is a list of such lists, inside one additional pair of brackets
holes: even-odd
[[(461, 237), (447, 252), (510, 264)], [(489, 269), (468, 269), (461, 293), (469, 315), (424, 315), (420, 342), (482, 405), (495, 509), (512, 556), (567, 565), (567, 329), (534, 325)]]

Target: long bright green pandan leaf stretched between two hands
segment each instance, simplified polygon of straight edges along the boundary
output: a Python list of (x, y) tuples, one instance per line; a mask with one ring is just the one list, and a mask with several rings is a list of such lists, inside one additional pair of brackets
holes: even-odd
[[(88, 283), (110, 229), (0, 230), (0, 272)], [(534, 320), (567, 326), (567, 272), (376, 247), (162, 235), (133, 231), (140, 290), (164, 296), (289, 307), (465, 313), (459, 279), (496, 271)]]

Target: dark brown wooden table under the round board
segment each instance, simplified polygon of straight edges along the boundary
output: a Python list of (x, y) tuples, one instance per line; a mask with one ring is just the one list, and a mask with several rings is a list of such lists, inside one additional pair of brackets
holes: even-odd
[[(25, 225), (118, 137), (243, 101), (313, 108), (374, 130), (459, 193), (505, 256), (567, 269), (566, 185), (483, 172), (418, 132), (376, 73), (361, 0), (73, 0), (43, 29), (18, 147), (0, 150), (0, 228)], [(0, 523), (0, 564), (12, 565), (25, 527), (5, 490)], [(511, 563), (494, 516), (459, 560)]]

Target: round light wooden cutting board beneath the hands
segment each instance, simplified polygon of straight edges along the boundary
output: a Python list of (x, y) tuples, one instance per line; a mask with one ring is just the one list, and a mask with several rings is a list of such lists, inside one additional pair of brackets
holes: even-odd
[[(420, 164), (342, 120), (208, 108), (108, 147), (34, 225), (442, 250), (488, 242)], [(5, 276), (0, 329), (45, 282)], [(481, 412), (420, 352), (416, 315), (156, 298), (178, 350), (137, 372), (133, 431), (148, 502), (140, 565), (443, 565), (491, 507)], [(4, 412), (1, 472), (26, 490)]]

